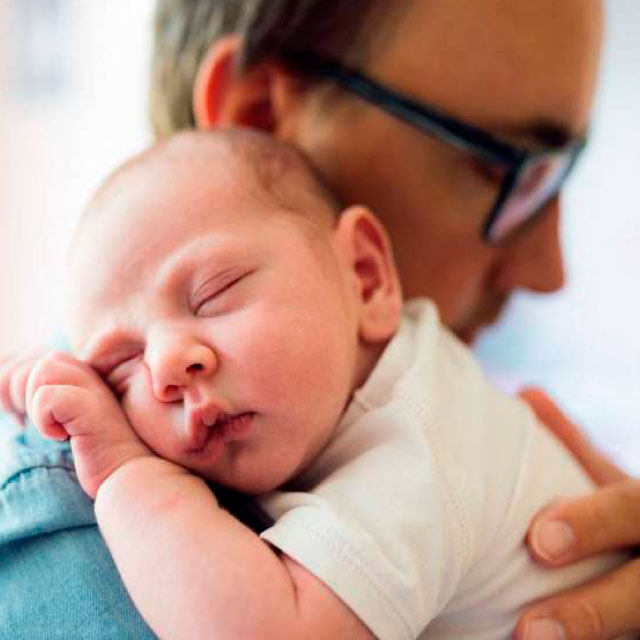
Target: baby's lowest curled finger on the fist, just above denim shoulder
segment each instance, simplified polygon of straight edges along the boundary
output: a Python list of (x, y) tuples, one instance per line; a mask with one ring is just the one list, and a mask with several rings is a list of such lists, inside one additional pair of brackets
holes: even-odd
[(38, 387), (29, 403), (29, 417), (47, 438), (66, 440), (69, 425), (78, 416), (82, 389), (70, 385)]

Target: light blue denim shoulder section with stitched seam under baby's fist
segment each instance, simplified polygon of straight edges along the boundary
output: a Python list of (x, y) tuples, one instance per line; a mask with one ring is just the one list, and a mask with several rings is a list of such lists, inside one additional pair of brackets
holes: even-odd
[(47, 442), (0, 415), (0, 546), (95, 524), (66, 443)]

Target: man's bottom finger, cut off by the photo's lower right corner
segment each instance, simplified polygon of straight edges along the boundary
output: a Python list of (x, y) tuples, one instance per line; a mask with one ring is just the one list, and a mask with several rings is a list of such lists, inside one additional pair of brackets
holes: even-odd
[(636, 559), (586, 585), (536, 604), (520, 619), (514, 638), (608, 640), (639, 628), (640, 559)]

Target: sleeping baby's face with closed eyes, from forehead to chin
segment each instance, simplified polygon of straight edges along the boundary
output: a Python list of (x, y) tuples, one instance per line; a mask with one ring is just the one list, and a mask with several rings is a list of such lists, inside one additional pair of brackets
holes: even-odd
[(328, 216), (248, 191), (201, 169), (125, 178), (72, 257), (70, 337), (158, 455), (259, 493), (326, 444), (359, 347)]

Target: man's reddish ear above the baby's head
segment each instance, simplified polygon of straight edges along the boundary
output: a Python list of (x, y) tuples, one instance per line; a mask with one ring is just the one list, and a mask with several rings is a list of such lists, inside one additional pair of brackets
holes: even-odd
[(276, 61), (238, 71), (240, 46), (237, 36), (225, 36), (200, 63), (193, 87), (196, 126), (251, 127), (286, 138), (295, 122), (303, 81)]

